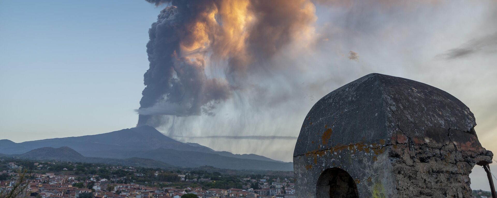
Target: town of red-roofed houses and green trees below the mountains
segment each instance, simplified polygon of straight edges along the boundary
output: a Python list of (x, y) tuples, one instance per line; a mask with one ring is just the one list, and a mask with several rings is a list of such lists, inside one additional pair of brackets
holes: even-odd
[(0, 158), (0, 197), (296, 198), (293, 178), (282, 175)]

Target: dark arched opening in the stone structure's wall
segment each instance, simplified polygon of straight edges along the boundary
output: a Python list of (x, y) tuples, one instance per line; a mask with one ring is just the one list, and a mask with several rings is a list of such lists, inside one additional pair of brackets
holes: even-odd
[(340, 168), (329, 168), (321, 173), (316, 185), (317, 198), (359, 198), (354, 179)]

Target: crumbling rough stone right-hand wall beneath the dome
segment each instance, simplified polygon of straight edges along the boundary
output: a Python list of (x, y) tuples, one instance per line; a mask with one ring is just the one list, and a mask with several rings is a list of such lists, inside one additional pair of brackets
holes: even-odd
[(400, 198), (471, 198), (471, 170), (493, 156), (488, 150), (461, 150), (452, 143), (399, 144), (389, 155)]

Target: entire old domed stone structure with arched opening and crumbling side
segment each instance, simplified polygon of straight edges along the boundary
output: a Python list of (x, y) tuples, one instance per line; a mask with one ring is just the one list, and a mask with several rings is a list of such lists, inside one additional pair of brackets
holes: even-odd
[(413, 80), (369, 74), (320, 99), (294, 151), (298, 198), (471, 198), (492, 163), (469, 108)]

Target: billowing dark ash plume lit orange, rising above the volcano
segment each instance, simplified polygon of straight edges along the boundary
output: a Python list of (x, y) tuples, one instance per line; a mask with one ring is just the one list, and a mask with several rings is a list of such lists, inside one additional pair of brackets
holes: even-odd
[(275, 67), (268, 60), (316, 20), (309, 0), (147, 0), (168, 6), (149, 29), (138, 126), (161, 126), (163, 115), (214, 115), (248, 83)]

